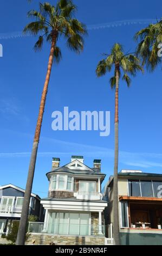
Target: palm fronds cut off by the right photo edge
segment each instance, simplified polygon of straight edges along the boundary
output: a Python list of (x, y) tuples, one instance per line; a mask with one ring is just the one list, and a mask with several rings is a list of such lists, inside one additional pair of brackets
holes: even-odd
[(161, 63), (158, 46), (162, 43), (162, 19), (138, 31), (134, 39), (139, 41), (137, 56), (142, 59), (142, 64), (146, 64), (146, 68), (152, 72)]

